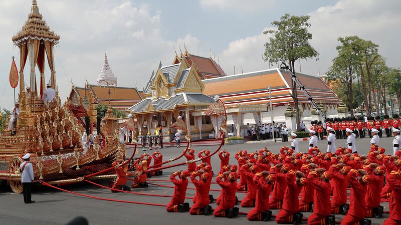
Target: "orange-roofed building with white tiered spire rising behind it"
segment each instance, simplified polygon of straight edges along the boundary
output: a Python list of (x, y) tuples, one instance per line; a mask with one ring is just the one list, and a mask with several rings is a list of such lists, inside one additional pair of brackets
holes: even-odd
[(86, 84), (85, 87), (72, 86), (70, 99), (72, 103), (83, 101), (86, 95), (89, 102), (94, 104), (110, 105), (120, 111), (125, 111), (132, 105), (142, 100), (142, 94), (136, 87), (117, 86), (117, 77), (110, 69), (107, 55), (104, 55), (104, 64), (99, 77), (96, 79), (97, 85)]

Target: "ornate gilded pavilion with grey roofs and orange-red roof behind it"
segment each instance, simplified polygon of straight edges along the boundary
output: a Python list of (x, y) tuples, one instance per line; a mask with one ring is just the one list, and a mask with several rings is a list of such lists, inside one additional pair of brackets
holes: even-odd
[(136, 117), (139, 135), (154, 134), (162, 127), (164, 141), (172, 141), (176, 130), (169, 125), (178, 116), (185, 122), (191, 140), (209, 138), (211, 132), (218, 132), (220, 126), (212, 125), (211, 117), (203, 115), (215, 101), (203, 94), (202, 78), (222, 76), (224, 71), (213, 59), (193, 56), (187, 51), (176, 55), (171, 65), (160, 63), (144, 88), (145, 99), (128, 109)]

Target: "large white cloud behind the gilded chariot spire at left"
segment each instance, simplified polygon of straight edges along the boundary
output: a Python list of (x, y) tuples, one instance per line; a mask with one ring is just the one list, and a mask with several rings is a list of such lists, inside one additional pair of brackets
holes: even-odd
[[(31, 8), (30, 1), (26, 2), (18, 29), (25, 23)], [(19, 54), (18, 48), (13, 49), (11, 45), (11, 37), (17, 32), (20, 5), (20, 2), (8, 1), (3, 6), (2, 12), (5, 13), (0, 14), (2, 29), (6, 31), (0, 34), (0, 42), (9, 43), (0, 47), (0, 60), (7, 62), (0, 68), (7, 74), (11, 55)], [(118, 78), (118, 85), (132, 87), (136, 80), (141, 90), (152, 70), (157, 68), (159, 60), (163, 65), (172, 63), (174, 46), (179, 53), (178, 46), (183, 49), (185, 43), (188, 49), (195, 50), (199, 43), (197, 38), (189, 34), (182, 34), (182, 38), (177, 40), (166, 40), (161, 34), (161, 12), (150, 11), (146, 4), (135, 5), (128, 0), (102, 0), (97, 1), (96, 5), (92, 1), (52, 0), (38, 1), (38, 6), (47, 24), (61, 36), (60, 47), (55, 48), (55, 69), (61, 97), (67, 96), (71, 90), (69, 79), (77, 86), (83, 86), (84, 77), (90, 83), (96, 83), (105, 52)], [(18, 57), (16, 60), (19, 64)], [(25, 67), (26, 81), (29, 79), (28, 67)], [(48, 80), (49, 71), (45, 75)], [(11, 108), (13, 92), (6, 79), (4, 77), (3, 84), (7, 84), (7, 90), (0, 105)], [(3, 87), (0, 86), (0, 96)]]

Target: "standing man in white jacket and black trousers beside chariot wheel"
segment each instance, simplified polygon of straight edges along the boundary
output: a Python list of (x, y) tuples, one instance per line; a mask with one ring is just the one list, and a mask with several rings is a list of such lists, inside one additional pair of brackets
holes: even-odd
[(26, 204), (35, 202), (31, 199), (32, 182), (34, 182), (34, 169), (32, 167), (32, 163), (29, 162), (30, 157), (30, 153), (24, 155), (22, 157), (24, 162), (20, 165), (21, 183), (24, 193), (24, 202)]

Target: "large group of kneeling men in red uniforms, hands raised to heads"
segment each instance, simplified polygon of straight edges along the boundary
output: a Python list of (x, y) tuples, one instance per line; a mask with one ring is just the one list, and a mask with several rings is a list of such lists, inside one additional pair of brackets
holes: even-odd
[[(279, 154), (266, 148), (252, 153), (241, 150), (235, 155), (237, 166), (229, 164), (229, 152), (220, 151), (221, 169), (216, 182), (222, 190), (217, 199), (218, 207), (212, 209), (210, 206), (214, 199), (209, 195), (213, 177), (209, 157), (198, 165), (188, 163), (187, 170), (176, 171), (170, 176), (175, 188), (167, 211), (189, 210), (190, 214), (205, 215), (214, 211), (215, 216), (233, 217), (239, 213), (235, 206), (238, 202), (236, 192), (247, 191), (241, 206), (254, 207), (248, 212), (249, 220), (267, 221), (271, 219), (270, 209), (280, 209), (276, 215), (278, 223), (298, 224), (303, 218), (302, 212), (310, 211), (313, 213), (308, 217), (308, 224), (335, 224), (335, 214), (345, 215), (341, 224), (370, 224), (367, 217), (380, 218), (383, 214), (381, 198), (389, 198), (390, 214), (384, 224), (399, 224), (401, 152), (396, 155), (384, 153), (385, 150), (377, 145), (372, 145), (366, 156), (352, 153), (350, 148), (321, 152), (317, 146), (310, 147), (307, 153), (295, 153), (289, 147), (282, 147)], [(208, 154), (210, 152), (202, 151), (198, 156)], [(194, 151), (190, 149), (185, 157), (193, 159)], [(146, 170), (143, 166), (142, 169)], [(196, 189), (191, 207), (184, 202), (187, 176)], [(349, 203), (348, 186), (351, 188)]]

